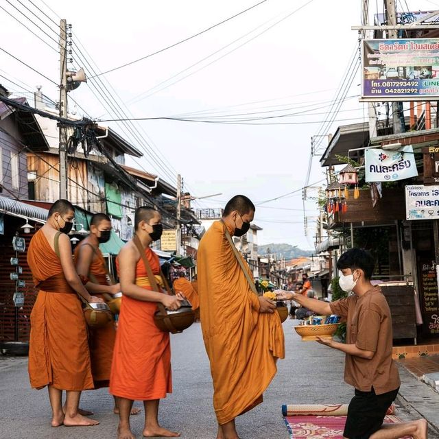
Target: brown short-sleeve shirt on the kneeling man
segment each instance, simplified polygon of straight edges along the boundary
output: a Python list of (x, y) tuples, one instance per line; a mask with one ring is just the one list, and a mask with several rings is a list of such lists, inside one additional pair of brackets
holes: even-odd
[(346, 344), (375, 352), (372, 359), (346, 354), (344, 381), (361, 392), (383, 394), (399, 388), (401, 381), (392, 360), (392, 317), (379, 287), (361, 297), (353, 294), (329, 304), (331, 311), (346, 318)]

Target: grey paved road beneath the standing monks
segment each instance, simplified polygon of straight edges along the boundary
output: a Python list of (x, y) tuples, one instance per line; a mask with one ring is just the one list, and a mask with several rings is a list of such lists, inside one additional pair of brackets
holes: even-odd
[[(286, 357), (278, 363), (278, 375), (265, 393), (264, 403), (237, 419), (243, 439), (287, 439), (282, 404), (348, 403), (353, 394), (343, 383), (341, 353), (301, 342), (292, 330), (292, 320), (284, 323), (284, 331)], [(180, 431), (183, 438), (215, 438), (212, 383), (200, 324), (172, 336), (172, 357), (174, 393), (161, 403), (161, 423)], [(111, 412), (112, 397), (104, 389), (84, 392), (82, 398), (82, 407), (94, 410), (100, 425), (51, 428), (47, 392), (30, 390), (25, 358), (0, 359), (0, 395), (1, 439), (115, 438), (117, 416)], [(410, 407), (401, 412), (403, 418), (410, 417), (409, 412)], [(133, 416), (137, 438), (141, 438), (142, 427), (143, 414)]]

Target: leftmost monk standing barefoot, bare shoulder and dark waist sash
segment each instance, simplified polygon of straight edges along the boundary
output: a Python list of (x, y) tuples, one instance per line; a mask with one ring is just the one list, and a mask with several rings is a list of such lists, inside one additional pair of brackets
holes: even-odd
[[(52, 427), (99, 424), (78, 413), (81, 391), (93, 389), (86, 322), (78, 295), (88, 302), (102, 299), (90, 296), (76, 274), (66, 235), (74, 215), (69, 201), (55, 202), (27, 250), (27, 263), (39, 289), (30, 316), (29, 378), (32, 388), (48, 387)], [(65, 414), (62, 390), (67, 391)]]

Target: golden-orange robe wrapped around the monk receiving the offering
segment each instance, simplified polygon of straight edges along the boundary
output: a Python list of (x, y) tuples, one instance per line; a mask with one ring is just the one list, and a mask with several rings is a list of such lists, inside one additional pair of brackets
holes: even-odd
[(214, 222), (198, 248), (201, 327), (220, 425), (261, 403), (276, 374), (276, 359), (285, 354), (278, 313), (259, 313), (259, 300), (226, 239), (225, 227)]

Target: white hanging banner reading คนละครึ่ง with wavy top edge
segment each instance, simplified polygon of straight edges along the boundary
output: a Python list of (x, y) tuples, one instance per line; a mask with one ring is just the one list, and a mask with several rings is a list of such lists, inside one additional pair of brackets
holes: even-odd
[(416, 161), (412, 145), (397, 151), (370, 148), (364, 152), (366, 182), (396, 181), (416, 177)]

